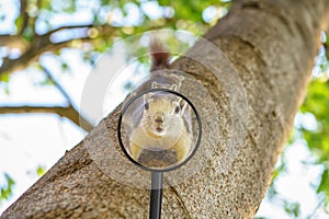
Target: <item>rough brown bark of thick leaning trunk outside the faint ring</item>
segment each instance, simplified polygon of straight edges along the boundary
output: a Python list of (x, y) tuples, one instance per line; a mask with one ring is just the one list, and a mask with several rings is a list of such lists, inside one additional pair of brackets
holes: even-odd
[[(254, 216), (303, 101), (328, 14), (328, 0), (240, 0), (205, 34), (238, 70), (248, 101), (247, 135), (227, 173), (216, 172), (220, 153), (215, 153), (197, 176), (166, 188), (163, 218)], [(212, 54), (204, 58), (216, 60)], [(188, 59), (175, 66), (205, 84), (219, 103), (222, 91), (207, 69)], [(197, 96), (197, 91), (191, 92)], [(217, 107), (220, 111), (220, 104)], [(110, 138), (115, 138), (117, 116), (114, 112), (102, 122)], [(98, 127), (93, 130), (93, 136), (102, 135)], [(81, 142), (1, 218), (147, 218), (148, 195), (149, 191), (121, 185), (98, 170)]]

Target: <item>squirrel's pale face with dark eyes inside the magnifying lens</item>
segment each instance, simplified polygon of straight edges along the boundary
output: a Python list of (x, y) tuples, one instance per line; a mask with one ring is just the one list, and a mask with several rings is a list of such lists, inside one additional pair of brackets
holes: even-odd
[(150, 97), (144, 102), (141, 126), (154, 138), (181, 135), (183, 128), (182, 106), (179, 99)]

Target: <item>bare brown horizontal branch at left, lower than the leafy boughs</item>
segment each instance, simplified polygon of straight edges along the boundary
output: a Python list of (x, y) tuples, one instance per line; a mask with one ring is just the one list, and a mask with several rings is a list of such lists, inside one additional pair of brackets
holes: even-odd
[[(75, 123), (77, 126), (81, 127), (86, 131), (90, 131), (93, 126), (88, 122), (80, 123), (79, 113), (72, 107), (63, 106), (1, 106), (0, 114), (27, 114), (27, 113), (39, 113), (39, 114), (57, 114), (61, 117), (66, 117)], [(83, 119), (83, 118), (82, 118)], [(81, 126), (83, 124), (83, 126)]]

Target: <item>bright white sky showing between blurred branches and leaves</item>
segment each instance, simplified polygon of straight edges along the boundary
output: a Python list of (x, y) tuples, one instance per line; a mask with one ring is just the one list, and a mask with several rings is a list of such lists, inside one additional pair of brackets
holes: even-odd
[[(16, 0), (1, 0), (0, 15), (1, 13), (5, 13), (8, 16), (5, 20), (0, 21), (0, 34), (10, 33), (12, 31), (12, 20), (18, 15), (15, 9), (16, 2)], [(83, 4), (83, 2), (86, 3), (86, 1), (80, 2), (81, 4)], [(135, 10), (134, 5), (128, 5), (128, 8), (133, 11)], [(54, 25), (61, 25), (68, 20), (72, 23), (89, 22), (91, 16), (88, 16), (88, 14), (90, 12), (89, 10), (92, 9), (92, 5), (87, 7), (86, 11), (72, 14), (69, 18), (67, 15), (59, 15), (53, 18), (52, 22)], [(150, 16), (156, 18), (158, 13), (155, 13), (155, 11), (159, 9), (157, 4), (148, 3), (144, 5), (144, 10), (149, 11)], [(8, 13), (9, 11), (12, 13)], [(209, 18), (214, 16), (214, 9), (209, 8), (205, 10), (203, 16), (205, 20), (211, 20)], [(117, 24), (138, 24), (138, 16), (132, 15), (129, 19), (124, 19), (120, 11), (115, 12), (114, 15), (114, 22)], [(44, 31), (45, 26), (39, 22), (38, 32), (43, 33)], [(64, 34), (57, 37), (60, 39), (60, 37), (65, 36), (67, 35)], [(0, 56), (3, 53), (7, 53), (5, 48), (0, 48)], [(92, 69), (89, 65), (83, 62), (81, 54), (76, 49), (67, 49), (60, 57), (73, 64), (71, 65), (70, 72), (63, 73), (57, 58), (52, 55), (45, 55), (41, 60), (44, 65), (50, 67), (54, 76), (75, 101), (73, 104), (79, 107), (81, 104), (83, 84), (92, 72)], [(107, 56), (105, 59), (117, 65), (125, 65), (123, 60), (124, 57)], [(126, 71), (132, 71), (134, 68), (135, 66), (132, 64), (126, 68)], [(117, 81), (115, 83), (122, 85), (124, 81), (129, 78), (128, 74), (125, 76), (127, 77), (121, 78), (123, 80), (122, 82)], [(37, 85), (44, 79), (45, 76), (33, 67), (11, 74), (8, 84), (9, 94), (5, 93), (5, 85), (0, 83), (0, 107), (1, 105), (25, 105), (27, 103), (65, 105), (66, 101), (56, 88)], [(118, 89), (114, 89), (110, 95), (116, 96), (116, 103), (109, 101), (110, 99), (105, 99), (104, 108), (106, 110), (103, 110), (101, 116), (106, 115), (110, 108), (114, 107), (114, 105), (120, 103), (125, 96), (125, 94), (118, 92)], [(316, 126), (311, 116), (300, 114), (298, 116), (295, 123), (304, 123), (310, 128)], [(39, 177), (36, 174), (37, 166), (41, 165), (48, 170), (65, 154), (66, 150), (73, 148), (84, 136), (86, 132), (77, 127), (77, 125), (57, 115), (0, 115), (0, 185), (4, 182), (3, 173), (8, 173), (16, 182), (13, 196), (2, 206), (0, 205), (0, 214), (36, 182)], [(313, 218), (326, 218), (322, 208), (317, 208), (321, 199), (317, 197), (311, 187), (319, 181), (321, 166), (305, 165), (305, 161), (311, 162), (311, 159), (314, 159), (305, 142), (297, 141), (293, 146), (290, 146), (285, 150), (282, 159), (286, 160), (287, 170), (275, 182), (275, 187), (279, 193), (287, 199), (300, 203), (303, 216), (313, 215)], [(282, 207), (273, 205), (273, 201), (271, 203), (266, 198), (262, 203), (258, 216), (269, 217), (271, 219), (288, 218)]]

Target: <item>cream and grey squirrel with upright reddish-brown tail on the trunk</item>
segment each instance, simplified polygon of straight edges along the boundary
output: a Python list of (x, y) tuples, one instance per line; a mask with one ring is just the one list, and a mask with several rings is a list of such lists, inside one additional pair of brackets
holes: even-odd
[[(150, 43), (150, 78), (135, 94), (158, 88), (178, 91), (184, 78), (168, 70), (170, 54), (157, 39)], [(138, 162), (143, 150), (172, 150), (175, 163), (184, 161), (192, 146), (191, 106), (169, 92), (148, 92), (135, 102), (124, 118), (124, 123), (131, 126), (131, 157)]]

